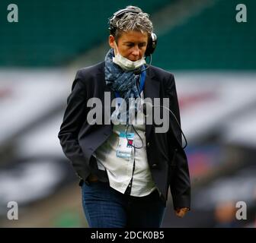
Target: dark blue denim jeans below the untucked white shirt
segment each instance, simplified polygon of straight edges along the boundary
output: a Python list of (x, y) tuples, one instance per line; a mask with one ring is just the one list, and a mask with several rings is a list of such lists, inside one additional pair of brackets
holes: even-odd
[(82, 205), (91, 228), (159, 228), (165, 213), (157, 190), (133, 197), (101, 181), (82, 184)]

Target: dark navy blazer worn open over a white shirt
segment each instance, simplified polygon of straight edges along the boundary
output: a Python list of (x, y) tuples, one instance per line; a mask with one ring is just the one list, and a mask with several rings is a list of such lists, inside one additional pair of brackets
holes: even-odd
[[(93, 171), (92, 167), (95, 167), (91, 166), (94, 158), (91, 156), (92, 153), (113, 132), (112, 124), (89, 125), (86, 119), (91, 109), (86, 106), (88, 99), (97, 97), (101, 99), (104, 107), (105, 91), (110, 92), (111, 100), (115, 98), (114, 92), (105, 84), (104, 62), (78, 70), (72, 84), (72, 92), (67, 99), (66, 111), (58, 134), (63, 152), (71, 160), (78, 177), (84, 181)], [(153, 98), (168, 98), (169, 109), (174, 112), (180, 122), (173, 74), (150, 66), (146, 70), (144, 98), (146, 97), (152, 100)], [(107, 109), (108, 112), (114, 110), (109, 106), (104, 107), (105, 112)], [(190, 175), (187, 156), (181, 147), (181, 131), (171, 113), (169, 120), (169, 130), (165, 133), (155, 133), (157, 125), (154, 122), (152, 125), (146, 125), (147, 158), (152, 178), (161, 192), (163, 203), (166, 205), (170, 187), (174, 208), (190, 208)]]

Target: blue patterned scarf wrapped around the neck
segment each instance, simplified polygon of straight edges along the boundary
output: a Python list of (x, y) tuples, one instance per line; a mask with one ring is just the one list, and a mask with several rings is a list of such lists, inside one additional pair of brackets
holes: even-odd
[[(124, 71), (112, 61), (113, 57), (114, 49), (110, 49), (105, 57), (105, 80), (107, 86), (119, 93), (120, 97), (126, 101), (128, 122), (129, 98), (136, 99), (139, 97), (139, 89), (136, 85), (139, 81), (139, 75), (135, 75), (133, 71)], [(135, 112), (137, 112), (136, 107)]]

